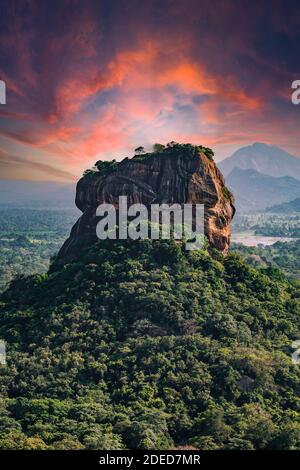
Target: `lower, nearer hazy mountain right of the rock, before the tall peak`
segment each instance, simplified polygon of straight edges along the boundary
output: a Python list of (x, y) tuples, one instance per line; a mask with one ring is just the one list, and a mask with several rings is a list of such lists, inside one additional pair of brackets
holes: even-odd
[(235, 196), (236, 207), (243, 211), (263, 210), (300, 196), (300, 181), (290, 176), (274, 178), (255, 170), (234, 168), (226, 182)]

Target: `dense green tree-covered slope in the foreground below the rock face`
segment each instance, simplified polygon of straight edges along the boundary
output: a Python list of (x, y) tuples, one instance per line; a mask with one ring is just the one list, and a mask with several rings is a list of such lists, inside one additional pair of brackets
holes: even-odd
[(299, 449), (299, 281), (102, 241), (1, 297), (2, 449)]

